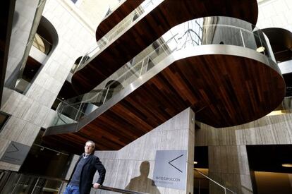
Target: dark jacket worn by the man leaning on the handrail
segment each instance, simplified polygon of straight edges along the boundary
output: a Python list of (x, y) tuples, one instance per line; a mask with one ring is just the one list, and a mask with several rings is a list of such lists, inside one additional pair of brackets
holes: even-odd
[[(74, 169), (73, 169), (73, 172), (71, 174), (71, 177), (69, 179), (69, 183), (70, 183), (71, 178), (74, 174), (76, 166), (82, 157), (83, 157), (83, 155), (81, 155), (79, 157), (78, 161), (76, 162)], [(102, 162), (99, 161), (98, 157), (96, 157), (93, 154), (90, 154), (90, 156), (88, 156), (88, 158), (83, 166), (83, 169), (81, 171), (80, 183), (79, 183), (80, 194), (90, 193), (90, 189), (92, 187), (93, 176), (95, 176), (96, 171), (99, 172), (99, 178), (97, 180), (97, 183), (102, 185), (102, 183), (104, 182), (106, 169), (104, 169), (104, 165), (102, 165)]]

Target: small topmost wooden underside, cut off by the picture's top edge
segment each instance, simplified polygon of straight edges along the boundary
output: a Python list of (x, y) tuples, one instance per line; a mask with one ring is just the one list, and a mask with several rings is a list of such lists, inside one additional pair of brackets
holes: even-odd
[(97, 26), (96, 38), (99, 41), (104, 35), (114, 28), (123, 18), (126, 18), (135, 8), (145, 0), (127, 0), (118, 6), (106, 19)]

